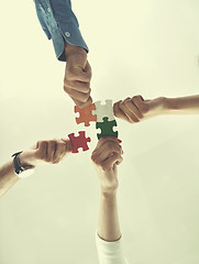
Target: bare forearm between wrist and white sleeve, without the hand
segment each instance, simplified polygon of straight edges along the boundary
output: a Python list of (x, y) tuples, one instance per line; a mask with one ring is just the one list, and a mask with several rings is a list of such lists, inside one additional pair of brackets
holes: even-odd
[(109, 195), (101, 193), (98, 235), (108, 242), (117, 241), (121, 238), (117, 191)]

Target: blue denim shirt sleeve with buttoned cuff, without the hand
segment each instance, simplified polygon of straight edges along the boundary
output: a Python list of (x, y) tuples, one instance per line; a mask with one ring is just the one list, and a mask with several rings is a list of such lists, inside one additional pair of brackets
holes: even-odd
[(57, 59), (66, 62), (64, 40), (88, 52), (70, 0), (34, 0), (34, 2), (41, 26), (47, 38), (53, 41)]

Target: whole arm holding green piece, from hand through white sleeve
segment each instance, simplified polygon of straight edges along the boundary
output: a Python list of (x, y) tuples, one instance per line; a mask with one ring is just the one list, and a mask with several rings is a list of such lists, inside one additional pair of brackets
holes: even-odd
[(100, 182), (100, 209), (96, 243), (100, 264), (126, 264), (120, 230), (117, 190), (117, 165), (122, 162), (120, 141), (113, 136), (101, 138), (92, 153)]

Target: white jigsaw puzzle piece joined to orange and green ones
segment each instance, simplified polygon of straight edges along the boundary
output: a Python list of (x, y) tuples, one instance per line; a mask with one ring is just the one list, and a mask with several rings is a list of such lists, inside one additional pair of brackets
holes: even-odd
[(95, 106), (96, 110), (92, 110), (92, 114), (97, 114), (97, 122), (103, 122), (104, 117), (107, 117), (109, 121), (114, 120), (112, 100), (106, 100), (104, 105), (101, 105), (101, 101), (97, 101)]

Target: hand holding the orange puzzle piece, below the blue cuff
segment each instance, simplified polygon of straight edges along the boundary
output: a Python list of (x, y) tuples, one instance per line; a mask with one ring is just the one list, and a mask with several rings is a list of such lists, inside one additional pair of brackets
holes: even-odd
[(90, 97), (91, 67), (87, 61), (87, 53), (82, 47), (66, 43), (67, 63), (64, 78), (64, 90), (79, 108), (92, 103)]

